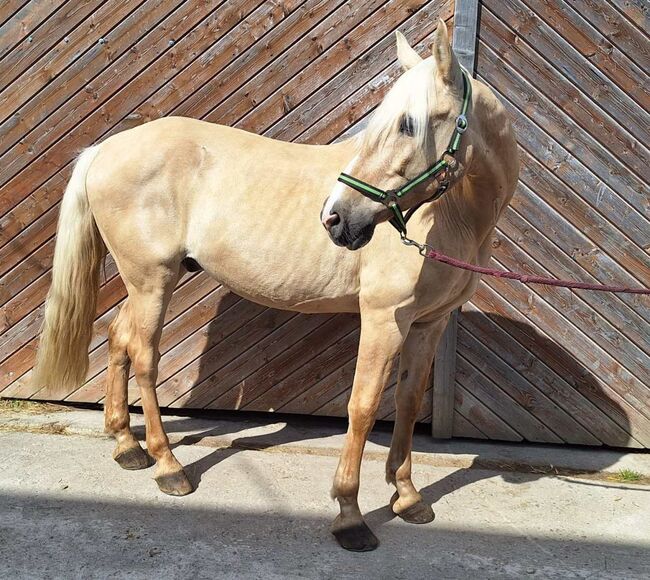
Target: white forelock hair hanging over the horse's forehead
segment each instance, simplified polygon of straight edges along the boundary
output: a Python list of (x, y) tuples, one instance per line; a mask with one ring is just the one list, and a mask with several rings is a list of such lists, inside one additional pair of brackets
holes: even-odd
[(397, 79), (361, 136), (364, 149), (381, 147), (388, 136), (399, 130), (405, 115), (413, 121), (416, 145), (424, 147), (429, 134), (429, 111), (435, 110), (436, 105), (434, 66), (432, 58), (424, 59)]

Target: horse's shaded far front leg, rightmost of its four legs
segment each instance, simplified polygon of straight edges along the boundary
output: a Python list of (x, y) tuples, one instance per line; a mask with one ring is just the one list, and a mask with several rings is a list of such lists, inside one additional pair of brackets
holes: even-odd
[(415, 524), (425, 524), (434, 518), (431, 506), (422, 501), (411, 480), (411, 448), (413, 427), (426, 390), (435, 349), (446, 323), (447, 317), (413, 324), (400, 355), (395, 392), (397, 413), (386, 463), (386, 480), (397, 488), (391, 499), (393, 511), (403, 520)]

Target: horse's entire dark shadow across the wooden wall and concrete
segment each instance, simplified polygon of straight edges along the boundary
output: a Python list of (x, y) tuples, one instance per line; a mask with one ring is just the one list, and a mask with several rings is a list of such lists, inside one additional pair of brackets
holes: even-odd
[[(250, 317), (248, 322), (224, 336), (223, 329), (229, 324), (228, 320), (236, 319), (244, 312)], [(228, 401), (223, 394), (229, 392), (236, 393), (230, 401), (239, 403), (253, 400), (252, 396), (272, 401), (274, 393), (291, 399), (295, 396), (291, 389), (304, 391), (306, 395), (301, 395), (302, 399), (311, 401), (313, 405), (313, 401), (322, 396), (320, 391), (330, 389), (327, 397), (338, 393), (335, 398), (341, 401), (344, 409), (354, 370), (358, 341), (356, 324), (354, 317), (348, 315), (295, 315), (261, 307), (255, 310), (244, 300), (218, 310), (209, 325), (209, 349), (199, 361), (199, 378), (184, 399), (183, 406), (196, 409), (207, 405), (219, 409), (213, 401)], [(331, 344), (328, 346), (324, 341)], [(290, 345), (293, 346), (288, 348)], [(307, 360), (309, 353), (314, 352), (321, 354)], [(225, 353), (225, 358), (215, 360), (220, 353)], [(504, 366), (506, 361), (510, 361), (512, 368)], [(264, 386), (262, 394), (260, 385)], [(456, 400), (456, 413), (462, 413), (485, 438), (493, 440), (516, 437), (518, 440), (547, 443), (580, 441), (610, 446), (630, 443), (630, 426), (625, 410), (584, 366), (532, 326), (494, 314), (469, 311), (461, 317)], [(305, 414), (289, 415), (282, 412), (282, 406), (279, 407), (281, 412), (275, 415), (251, 417), (224, 413), (220, 417), (224, 420), (217, 427), (177, 443), (176, 446), (192, 444), (205, 437), (225, 435), (230, 426), (241, 429), (242, 422), (250, 422), (251, 427), (267, 419), (281, 424), (271, 439), (269, 435), (236, 438), (232, 448), (215, 450), (186, 466), (194, 485), (200, 484), (202, 475), (208, 470), (242, 449), (266, 448), (345, 432), (346, 425), (342, 420), (323, 422)], [(222, 407), (224, 410), (233, 408)], [(229, 425), (229, 419), (232, 425)], [(165, 421), (165, 427), (174, 433), (184, 430), (185, 423), (169, 420)], [(387, 448), (391, 428), (390, 423), (378, 424), (370, 440)], [(420, 433), (428, 433), (429, 429), (429, 425), (418, 426)], [(514, 436), (499, 437), (501, 432)], [(466, 441), (471, 447), (472, 439)], [(480, 449), (478, 441), (477, 448)], [(416, 440), (414, 450), (430, 452), (432, 448), (431, 445), (423, 447)], [(467, 452), (472, 451), (467, 449)], [(604, 469), (611, 465), (612, 454), (596, 454), (595, 459), (602, 461), (602, 465), (594, 465), (594, 469)], [(494, 471), (486, 471), (489, 467), (487, 459), (480, 454), (474, 463), (470, 470), (459, 470), (426, 486), (422, 490), (425, 500), (435, 503), (458, 486), (495, 476)], [(498, 467), (494, 465), (493, 469)], [(526, 467), (520, 465), (517, 469), (525, 471)], [(509, 473), (506, 470), (502, 477), (521, 483), (545, 475), (548, 474)], [(387, 521), (393, 514), (385, 506), (373, 517)]]

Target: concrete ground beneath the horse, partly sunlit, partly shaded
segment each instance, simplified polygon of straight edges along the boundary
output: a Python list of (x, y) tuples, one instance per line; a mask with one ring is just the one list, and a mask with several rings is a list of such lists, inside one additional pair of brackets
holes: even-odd
[(2, 415), (0, 578), (650, 578), (650, 486), (552, 475), (648, 476), (647, 454), (420, 436), (436, 520), (415, 526), (387, 507), (389, 435), (374, 434), (360, 503), (381, 545), (354, 554), (328, 533), (340, 426), (165, 420), (198, 485), (184, 498), (121, 470), (97, 412)]

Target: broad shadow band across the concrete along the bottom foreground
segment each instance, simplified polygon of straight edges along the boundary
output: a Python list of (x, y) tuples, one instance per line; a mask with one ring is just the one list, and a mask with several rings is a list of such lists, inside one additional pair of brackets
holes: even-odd
[(644, 546), (598, 536), (386, 526), (380, 548), (361, 555), (341, 550), (323, 517), (126, 498), (3, 491), (0, 520), (7, 578), (524, 578), (531, 567), (584, 578), (607, 563), (616, 577), (648, 572)]

